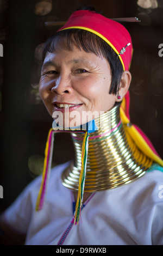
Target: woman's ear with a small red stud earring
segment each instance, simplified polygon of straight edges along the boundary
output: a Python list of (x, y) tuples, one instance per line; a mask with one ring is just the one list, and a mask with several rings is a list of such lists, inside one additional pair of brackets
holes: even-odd
[(128, 70), (123, 71), (121, 76), (120, 88), (116, 96), (121, 96), (120, 99), (116, 98), (117, 102), (122, 101), (123, 97), (126, 95), (131, 82), (131, 73)]

